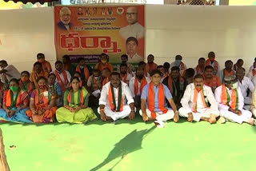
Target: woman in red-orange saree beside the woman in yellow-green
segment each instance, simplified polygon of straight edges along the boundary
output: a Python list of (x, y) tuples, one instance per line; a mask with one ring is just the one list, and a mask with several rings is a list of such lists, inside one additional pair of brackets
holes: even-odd
[(39, 77), (36, 82), (37, 88), (31, 93), (30, 109), (26, 111), (26, 115), (34, 123), (53, 122), (57, 110), (55, 97), (48, 89), (46, 78)]

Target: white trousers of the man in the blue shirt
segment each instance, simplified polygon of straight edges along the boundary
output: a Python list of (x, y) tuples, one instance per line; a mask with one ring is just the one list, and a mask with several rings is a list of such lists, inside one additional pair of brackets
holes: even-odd
[[(155, 112), (157, 117), (155, 118), (157, 121), (168, 121), (170, 119), (174, 118), (174, 110), (172, 109), (168, 109), (168, 111), (166, 113), (162, 113), (162, 112)], [(139, 114), (142, 116), (142, 110), (139, 110)], [(150, 109), (146, 109), (146, 115), (149, 118), (151, 117), (151, 112)]]

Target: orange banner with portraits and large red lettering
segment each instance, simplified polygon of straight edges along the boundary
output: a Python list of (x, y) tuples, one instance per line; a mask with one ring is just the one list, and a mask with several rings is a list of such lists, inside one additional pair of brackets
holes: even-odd
[(105, 53), (112, 64), (122, 54), (133, 64), (144, 61), (144, 18), (144, 6), (54, 6), (57, 58), (96, 63)]

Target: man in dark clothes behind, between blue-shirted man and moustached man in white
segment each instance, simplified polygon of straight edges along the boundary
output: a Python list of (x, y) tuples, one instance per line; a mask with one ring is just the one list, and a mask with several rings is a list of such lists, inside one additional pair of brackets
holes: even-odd
[(170, 89), (170, 93), (173, 96), (173, 100), (177, 109), (181, 108), (180, 103), (183, 96), (184, 79), (179, 74), (178, 66), (173, 66), (170, 71), (169, 77), (162, 81), (162, 84), (166, 85)]

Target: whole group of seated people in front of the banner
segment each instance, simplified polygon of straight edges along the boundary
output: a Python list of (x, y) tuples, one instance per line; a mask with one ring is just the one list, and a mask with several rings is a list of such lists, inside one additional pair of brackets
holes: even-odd
[(85, 123), (98, 117), (131, 120), (139, 113), (159, 128), (179, 117), (210, 124), (256, 124), (256, 60), (246, 77), (242, 59), (234, 65), (227, 60), (220, 70), (214, 52), (207, 60), (199, 58), (195, 68), (186, 68), (181, 55), (158, 66), (152, 54), (135, 68), (123, 54), (117, 71), (107, 54), (93, 70), (85, 58), (74, 65), (65, 55), (55, 62), (54, 71), (44, 54), (37, 58), (32, 72), (21, 74), (0, 61), (0, 121)]

